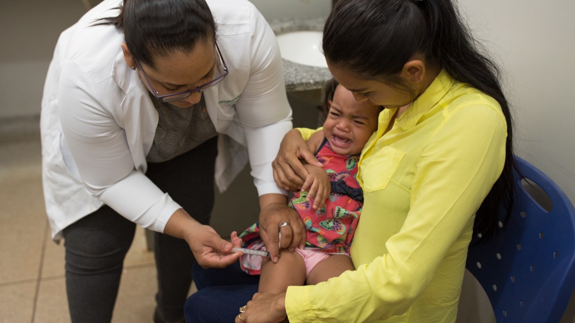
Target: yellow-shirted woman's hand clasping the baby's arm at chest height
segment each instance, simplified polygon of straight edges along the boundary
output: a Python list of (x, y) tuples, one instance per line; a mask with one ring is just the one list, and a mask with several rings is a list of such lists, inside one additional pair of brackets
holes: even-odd
[(271, 163), (274, 170), (274, 180), (278, 186), (286, 190), (297, 191), (301, 189), (308, 171), (301, 163), (304, 159), (308, 164), (322, 167), (317, 161), (313, 152), (309, 150), (301, 133), (297, 129), (292, 129), (283, 137), (279, 145), (278, 155)]

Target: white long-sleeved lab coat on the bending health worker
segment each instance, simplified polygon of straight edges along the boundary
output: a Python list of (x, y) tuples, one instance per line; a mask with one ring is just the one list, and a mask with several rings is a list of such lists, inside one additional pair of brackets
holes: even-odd
[[(120, 2), (105, 0), (65, 30), (48, 70), (40, 124), (44, 197), (55, 241), (104, 203), (158, 232), (180, 208), (144, 175), (158, 113), (125, 63), (123, 35), (114, 26), (91, 26), (96, 18), (116, 16)], [(216, 184), (227, 189), (249, 159), (259, 195), (285, 194), (274, 183), (271, 161), (292, 128), (292, 110), (273, 31), (247, 1), (208, 4), (229, 68), (223, 82), (203, 94), (220, 133)]]

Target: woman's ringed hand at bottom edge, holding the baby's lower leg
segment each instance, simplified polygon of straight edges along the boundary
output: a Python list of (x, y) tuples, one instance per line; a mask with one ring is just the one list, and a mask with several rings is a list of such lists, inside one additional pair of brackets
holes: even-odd
[[(236, 316), (236, 323), (279, 323), (287, 317), (286, 294), (260, 294), (247, 303), (244, 312)], [(241, 316), (241, 317), (240, 317)]]

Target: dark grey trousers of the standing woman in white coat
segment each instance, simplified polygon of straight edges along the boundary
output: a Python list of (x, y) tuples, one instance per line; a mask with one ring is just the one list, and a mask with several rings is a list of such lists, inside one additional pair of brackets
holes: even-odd
[[(208, 224), (214, 201), (216, 155), (214, 137), (174, 159), (148, 163), (146, 175), (197, 221)], [(66, 291), (72, 322), (112, 320), (124, 257), (135, 230), (133, 222), (106, 205), (64, 229)], [(175, 322), (183, 318), (195, 260), (184, 240), (157, 232), (154, 239), (158, 314), (164, 321)]]

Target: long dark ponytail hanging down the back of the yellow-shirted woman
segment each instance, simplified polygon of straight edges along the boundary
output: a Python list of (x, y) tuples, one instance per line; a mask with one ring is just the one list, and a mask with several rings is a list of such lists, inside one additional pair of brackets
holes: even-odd
[(501, 73), (496, 64), (485, 55), (485, 48), (473, 39), (469, 26), (461, 18), (450, 0), (423, 0), (416, 2), (427, 13), (430, 30), (430, 54), (451, 77), (494, 98), (507, 121), (505, 163), (499, 179), (477, 211), (475, 233), (482, 233), (482, 239), (496, 233), (501, 209), (511, 216), (514, 201), (513, 170), (516, 169), (513, 155), (513, 126), (509, 103), (501, 89)]

